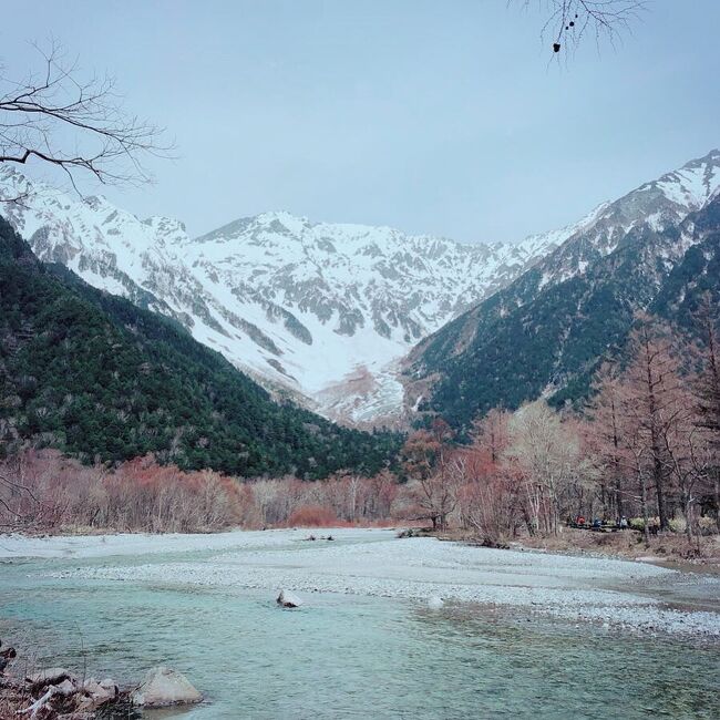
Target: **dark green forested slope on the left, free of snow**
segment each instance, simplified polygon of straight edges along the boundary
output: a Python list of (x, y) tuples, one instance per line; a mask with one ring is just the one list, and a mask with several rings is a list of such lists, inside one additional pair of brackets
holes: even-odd
[(322, 477), (376, 472), (399, 438), (272, 402), (181, 325), (44, 266), (0, 218), (0, 439), (92, 460)]

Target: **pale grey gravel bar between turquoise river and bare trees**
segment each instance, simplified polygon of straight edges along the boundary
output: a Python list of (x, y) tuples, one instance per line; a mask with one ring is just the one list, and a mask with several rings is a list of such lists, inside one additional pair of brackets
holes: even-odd
[[(307, 541), (311, 533), (336, 541)], [(286, 587), (415, 601), (440, 596), (630, 630), (720, 638), (718, 578), (610, 558), (398, 539), (392, 531), (0, 537), (0, 558), (19, 557), (102, 560), (81, 567), (59, 563), (50, 573), (59, 582), (85, 577), (272, 593)]]

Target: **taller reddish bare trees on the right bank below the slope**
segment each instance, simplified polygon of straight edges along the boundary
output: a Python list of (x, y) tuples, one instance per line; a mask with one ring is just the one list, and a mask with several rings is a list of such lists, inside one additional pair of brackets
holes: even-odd
[[(590, 401), (557, 412), (544, 400), (495, 408), (453, 445), (436, 419), (403, 449), (436, 528), (486, 538), (557, 534), (583, 518), (634, 521), (689, 539), (720, 531), (720, 358), (717, 309), (697, 315), (702, 342), (638, 316), (621, 361), (605, 363)], [(689, 351), (688, 351), (689, 348)]]

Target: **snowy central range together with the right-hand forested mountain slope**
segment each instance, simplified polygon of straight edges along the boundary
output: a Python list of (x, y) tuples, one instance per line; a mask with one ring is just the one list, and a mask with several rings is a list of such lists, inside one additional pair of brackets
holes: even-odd
[(22, 198), (3, 213), (41, 260), (179, 322), (277, 399), (364, 428), (586, 392), (707, 239), (686, 219), (719, 185), (713, 151), (560, 230), (463, 245), (282, 212), (191, 238), (0, 168), (0, 197)]

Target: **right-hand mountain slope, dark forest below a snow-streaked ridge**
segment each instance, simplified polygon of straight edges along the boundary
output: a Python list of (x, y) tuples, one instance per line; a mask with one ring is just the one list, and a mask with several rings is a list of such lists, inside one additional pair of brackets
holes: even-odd
[[(637, 310), (668, 315), (670, 296), (676, 305), (689, 298), (691, 258), (706, 243), (714, 256), (719, 186), (713, 151), (605, 206), (507, 288), (422, 341), (405, 366), (410, 401), (462, 426), (494, 405), (587, 392)], [(710, 289), (720, 282), (706, 280)]]

